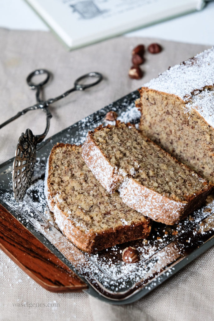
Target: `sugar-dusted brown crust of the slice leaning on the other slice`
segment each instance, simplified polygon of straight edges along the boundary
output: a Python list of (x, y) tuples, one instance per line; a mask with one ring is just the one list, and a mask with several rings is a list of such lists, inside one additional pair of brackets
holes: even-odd
[[(116, 121), (116, 127), (121, 126), (124, 126), (124, 124)], [(125, 126), (130, 127), (130, 124), (126, 124)], [(180, 219), (202, 205), (212, 188), (212, 184), (207, 183), (205, 180), (202, 184), (201, 191), (194, 193), (194, 195), (185, 196), (185, 200), (179, 200), (166, 197), (151, 188), (143, 186), (139, 181), (131, 177), (130, 173), (128, 174), (124, 169), (113, 166), (107, 155), (105, 155), (100, 147), (97, 146), (93, 138), (94, 133), (102, 131), (104, 128), (111, 130), (113, 126), (99, 126), (94, 132), (91, 131), (88, 133), (87, 139), (82, 146), (82, 157), (98, 181), (107, 188), (108, 191), (113, 193), (118, 189), (125, 204), (143, 215), (150, 217), (154, 221), (169, 225), (177, 223)], [(135, 128), (133, 128), (133, 130), (136, 131)], [(159, 146), (149, 139), (146, 140), (151, 145), (155, 146), (157, 152), (161, 151), (163, 153), (163, 150)], [(181, 164), (167, 152), (164, 153), (167, 157), (174, 160), (175, 163)], [(111, 167), (110, 175), (105, 171), (107, 166), (102, 166), (103, 163)], [(191, 175), (191, 170), (186, 165), (182, 164), (182, 167), (189, 172), (189, 175)], [(199, 177), (199, 179), (201, 178)]]

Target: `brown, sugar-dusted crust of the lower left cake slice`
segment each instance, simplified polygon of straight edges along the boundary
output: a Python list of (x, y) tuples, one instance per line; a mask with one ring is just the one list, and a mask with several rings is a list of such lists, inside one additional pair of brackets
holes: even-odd
[[(130, 224), (126, 223), (127, 225), (123, 223), (118, 224), (118, 222), (116, 222), (117, 224), (115, 224), (115, 227), (111, 227), (109, 224), (109, 227), (107, 229), (99, 229), (99, 231), (95, 231), (93, 230), (93, 228), (89, 228), (88, 230), (86, 230), (81, 226), (77, 226), (76, 221), (72, 220), (72, 218), (70, 217), (70, 209), (62, 209), (62, 200), (59, 197), (58, 192), (53, 192), (51, 187), (51, 185), (53, 184), (51, 180), (53, 171), (53, 159), (55, 157), (56, 151), (58, 151), (59, 149), (68, 149), (71, 152), (71, 156), (72, 153), (75, 152), (78, 154), (78, 157), (81, 157), (81, 146), (63, 143), (58, 143), (57, 145), (55, 145), (48, 158), (45, 175), (45, 194), (48, 207), (50, 211), (53, 212), (55, 221), (59, 229), (68, 239), (72, 241), (74, 245), (76, 245), (84, 252), (94, 253), (104, 248), (112, 247), (116, 244), (135, 239), (147, 238), (149, 236), (151, 230), (151, 222), (150, 219), (144, 216), (141, 216), (140, 220), (138, 221), (133, 220)], [(83, 160), (80, 161), (80, 164), (83, 164)], [(87, 173), (87, 175), (90, 174)], [(99, 186), (98, 182), (97, 184), (97, 188), (102, 189), (102, 187)], [(73, 215), (75, 216), (75, 213), (73, 213)]]

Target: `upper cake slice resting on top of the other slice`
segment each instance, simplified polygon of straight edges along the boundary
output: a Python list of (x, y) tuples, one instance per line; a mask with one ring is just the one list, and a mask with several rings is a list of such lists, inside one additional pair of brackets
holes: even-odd
[(82, 157), (109, 193), (154, 221), (173, 225), (200, 207), (212, 184), (144, 137), (116, 121), (90, 131)]

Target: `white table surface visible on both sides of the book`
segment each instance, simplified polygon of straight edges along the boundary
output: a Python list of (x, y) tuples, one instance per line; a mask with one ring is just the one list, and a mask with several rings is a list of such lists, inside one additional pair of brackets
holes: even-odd
[[(214, 45), (213, 17), (214, 2), (208, 2), (202, 11), (129, 32), (126, 35)], [(1, 0), (0, 27), (49, 30), (24, 0)]]

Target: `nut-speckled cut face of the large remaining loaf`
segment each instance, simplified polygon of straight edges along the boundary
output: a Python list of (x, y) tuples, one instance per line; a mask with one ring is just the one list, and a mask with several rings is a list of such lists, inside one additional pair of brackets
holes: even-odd
[[(212, 86), (205, 86), (203, 90), (206, 88), (211, 89)], [(201, 110), (208, 108), (207, 100), (203, 101), (204, 96), (192, 96), (193, 100), (201, 96), (201, 108), (197, 109), (196, 105), (190, 108), (193, 101), (189, 101), (189, 98), (184, 101), (175, 94), (148, 87), (142, 87), (139, 92), (140, 100), (136, 101), (136, 107), (141, 111), (139, 128), (142, 133), (214, 183), (214, 130), (212, 123), (209, 124), (206, 117), (201, 115)], [(206, 112), (211, 116), (212, 110), (209, 108)]]

